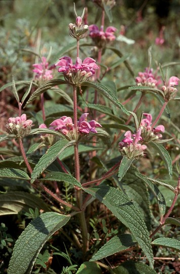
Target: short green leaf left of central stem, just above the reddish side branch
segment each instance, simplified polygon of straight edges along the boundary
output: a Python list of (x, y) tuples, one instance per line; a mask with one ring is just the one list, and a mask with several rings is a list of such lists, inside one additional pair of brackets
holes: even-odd
[(75, 179), (75, 177), (73, 177), (69, 174), (66, 174), (66, 173), (62, 173), (62, 172), (51, 172), (51, 173), (47, 174), (44, 179), (40, 179), (40, 180), (41, 181), (48, 180), (48, 181), (65, 182), (65, 183), (69, 183), (71, 185), (75, 185), (75, 186), (82, 188), (80, 182), (77, 181)]

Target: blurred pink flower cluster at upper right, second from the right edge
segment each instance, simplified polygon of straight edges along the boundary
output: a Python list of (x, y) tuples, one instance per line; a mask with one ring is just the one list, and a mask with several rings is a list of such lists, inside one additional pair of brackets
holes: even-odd
[(153, 73), (153, 68), (146, 67), (145, 72), (139, 72), (138, 76), (135, 78), (137, 86), (149, 86), (156, 88), (161, 80)]

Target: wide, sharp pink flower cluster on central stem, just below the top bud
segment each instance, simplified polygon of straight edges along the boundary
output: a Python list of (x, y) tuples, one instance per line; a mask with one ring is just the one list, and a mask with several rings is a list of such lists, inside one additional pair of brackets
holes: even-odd
[(59, 59), (55, 66), (59, 66), (58, 72), (63, 73), (65, 80), (73, 85), (79, 85), (86, 81), (99, 68), (96, 61), (91, 57), (87, 57), (83, 61), (78, 57), (76, 63), (73, 64), (70, 57), (64, 56)]

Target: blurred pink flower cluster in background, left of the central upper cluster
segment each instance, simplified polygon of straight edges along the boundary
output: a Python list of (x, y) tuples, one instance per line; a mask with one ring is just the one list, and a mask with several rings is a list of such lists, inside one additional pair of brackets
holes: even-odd
[(33, 64), (33, 72), (36, 73), (35, 78), (43, 80), (51, 80), (53, 78), (53, 71), (49, 69), (49, 63), (47, 62), (46, 57), (42, 57), (42, 62)]

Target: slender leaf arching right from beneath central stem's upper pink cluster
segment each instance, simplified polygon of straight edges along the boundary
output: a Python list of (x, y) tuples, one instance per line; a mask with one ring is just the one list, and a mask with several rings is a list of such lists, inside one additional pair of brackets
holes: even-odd
[(108, 98), (111, 102), (113, 102), (113, 104), (115, 106), (117, 106), (118, 108), (120, 108), (124, 113), (126, 113), (127, 115), (129, 115), (129, 112), (125, 109), (125, 107), (119, 102), (119, 100), (117, 99), (117, 97), (113, 94), (113, 92), (106, 88), (105, 86), (103, 86), (100, 83), (94, 83), (94, 82), (83, 82), (81, 84), (82, 86), (87, 86), (87, 87), (92, 87), (95, 90), (99, 91), (102, 95), (104, 95), (106, 98)]

